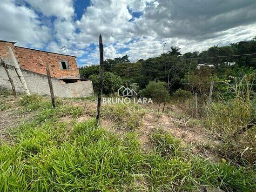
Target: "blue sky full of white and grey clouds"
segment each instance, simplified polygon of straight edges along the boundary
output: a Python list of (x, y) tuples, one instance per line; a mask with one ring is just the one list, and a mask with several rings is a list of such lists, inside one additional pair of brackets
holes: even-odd
[(1, 0), (0, 24), (0, 40), (55, 53), (66, 46), (86, 66), (99, 63), (99, 34), (104, 59), (131, 61), (252, 39), (256, 0)]

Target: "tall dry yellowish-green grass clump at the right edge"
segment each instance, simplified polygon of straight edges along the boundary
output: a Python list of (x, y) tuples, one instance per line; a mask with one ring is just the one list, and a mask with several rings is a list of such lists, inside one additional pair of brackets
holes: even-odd
[(207, 122), (211, 131), (220, 135), (223, 143), (216, 148), (224, 158), (236, 163), (247, 165), (256, 163), (255, 135), (256, 126), (237, 134), (251, 119), (256, 119), (256, 97), (250, 90), (249, 77), (229, 85), (235, 97), (232, 100), (219, 99), (209, 106)]

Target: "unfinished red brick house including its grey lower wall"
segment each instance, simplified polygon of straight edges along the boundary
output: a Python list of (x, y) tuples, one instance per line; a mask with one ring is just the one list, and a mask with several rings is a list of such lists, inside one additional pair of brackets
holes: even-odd
[[(61, 87), (55, 86), (54, 88), (54, 94), (56, 96), (81, 97), (94, 94), (92, 82), (88, 79), (80, 78), (75, 56), (15, 46), (14, 44), (15, 42), (0, 40), (0, 54), (8, 62), (10, 56), (7, 47), (12, 48), (16, 60), (20, 65), (20, 69), (23, 73), (27, 74), (27, 77), (24, 75), (24, 78), (28, 81), (27, 86), (31, 87), (30, 92), (49, 94), (47, 85), (44, 85), (47, 83), (46, 63), (49, 62), (52, 80), (54, 83), (61, 85)], [(11, 62), (9, 62), (9, 66), (9, 68), (12, 69)], [(15, 70), (13, 69), (13, 78), (15, 79), (15, 76), (17, 75), (15, 75), (14, 71)], [(0, 68), (0, 78), (7, 79), (2, 68)], [(34, 85), (34, 82), (37, 82), (37, 84)], [(6, 83), (0, 79), (0, 88), (9, 88), (4, 86), (4, 84)], [(17, 84), (19, 84), (19, 80), (17, 80)], [(41, 86), (42, 84), (43, 86)], [(17, 86), (20, 87), (20, 91), (22, 91), (22, 86), (16, 85), (16, 87)], [(66, 87), (67, 89), (69, 88), (71, 91), (73, 90), (72, 93), (70, 93), (70, 90), (65, 91), (65, 88), (63, 89), (63, 87)]]

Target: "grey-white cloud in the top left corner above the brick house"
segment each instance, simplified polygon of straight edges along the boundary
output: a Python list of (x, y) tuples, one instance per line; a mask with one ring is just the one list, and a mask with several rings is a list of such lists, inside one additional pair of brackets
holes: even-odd
[(0, 39), (17, 41), (17, 45), (43, 47), (51, 39), (51, 31), (38, 15), (24, 6), (16, 6), (14, 0), (0, 3)]

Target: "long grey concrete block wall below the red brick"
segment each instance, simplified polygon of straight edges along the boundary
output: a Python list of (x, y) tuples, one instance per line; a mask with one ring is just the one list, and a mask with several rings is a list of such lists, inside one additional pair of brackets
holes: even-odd
[[(17, 92), (24, 93), (20, 79), (13, 66), (8, 65), (10, 75), (13, 78), (14, 86)], [(27, 82), (30, 93), (50, 95), (47, 76), (34, 73), (25, 69), (21, 69), (23, 76)], [(52, 78), (54, 87), (54, 95), (57, 97), (87, 97), (94, 95), (92, 81), (81, 81), (76, 83), (68, 83), (61, 85), (60, 79)], [(7, 74), (2, 66), (0, 66), (0, 89), (12, 90), (8, 81)]]

